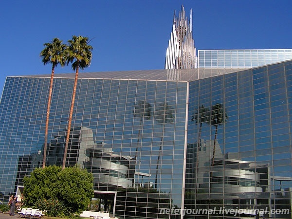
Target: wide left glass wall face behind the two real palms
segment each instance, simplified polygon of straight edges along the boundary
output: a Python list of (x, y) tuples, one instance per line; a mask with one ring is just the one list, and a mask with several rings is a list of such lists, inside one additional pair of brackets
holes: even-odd
[[(59, 75), (58, 75), (59, 76)], [(48, 77), (7, 77), (0, 103), (0, 200), (42, 165)], [(54, 79), (47, 165), (61, 165), (73, 78)], [(187, 82), (78, 79), (66, 165), (93, 174), (95, 199), (120, 218), (182, 207)], [(103, 202), (101, 201), (103, 200)]]

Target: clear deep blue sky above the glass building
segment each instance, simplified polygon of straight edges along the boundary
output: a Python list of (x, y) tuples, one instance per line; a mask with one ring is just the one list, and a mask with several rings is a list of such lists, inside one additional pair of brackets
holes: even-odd
[(50, 74), (39, 53), (54, 37), (91, 39), (91, 66), (82, 72), (163, 69), (182, 4), (187, 16), (193, 9), (197, 49), (292, 48), (291, 0), (3, 0), (0, 91), (6, 76)]

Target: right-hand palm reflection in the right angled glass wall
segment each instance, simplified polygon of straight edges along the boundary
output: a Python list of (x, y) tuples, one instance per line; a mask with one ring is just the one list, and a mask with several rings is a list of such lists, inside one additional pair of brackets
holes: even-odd
[(213, 144), (213, 156), (212, 156), (212, 166), (214, 166), (215, 161), (215, 146), (217, 139), (218, 126), (226, 123), (228, 120), (227, 113), (225, 112), (224, 106), (222, 104), (215, 104), (211, 108), (211, 125), (215, 127), (214, 144)]

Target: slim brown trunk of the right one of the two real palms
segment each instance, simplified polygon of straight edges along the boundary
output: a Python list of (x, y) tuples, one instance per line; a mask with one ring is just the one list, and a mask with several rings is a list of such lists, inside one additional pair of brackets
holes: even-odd
[(70, 106), (69, 121), (68, 121), (68, 127), (67, 127), (67, 137), (66, 137), (66, 144), (65, 144), (65, 149), (64, 149), (62, 169), (65, 169), (66, 158), (67, 158), (67, 151), (68, 151), (69, 138), (70, 138), (70, 132), (71, 132), (71, 123), (72, 123), (73, 109), (74, 109), (74, 101), (75, 101), (76, 87), (77, 87), (77, 80), (78, 80), (78, 71), (79, 71), (79, 65), (76, 66), (76, 73), (75, 73), (73, 94), (72, 94), (72, 100), (71, 100), (71, 106)]

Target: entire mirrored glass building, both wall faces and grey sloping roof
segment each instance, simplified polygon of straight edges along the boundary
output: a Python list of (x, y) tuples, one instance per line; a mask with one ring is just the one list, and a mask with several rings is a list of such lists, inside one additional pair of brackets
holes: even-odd
[[(93, 201), (106, 204), (89, 210), (121, 219), (291, 218), (292, 61), (200, 71), (79, 75), (66, 164), (92, 172)], [(42, 164), (49, 80), (6, 79), (1, 201)], [(62, 163), (73, 81), (54, 80), (47, 165)]]

